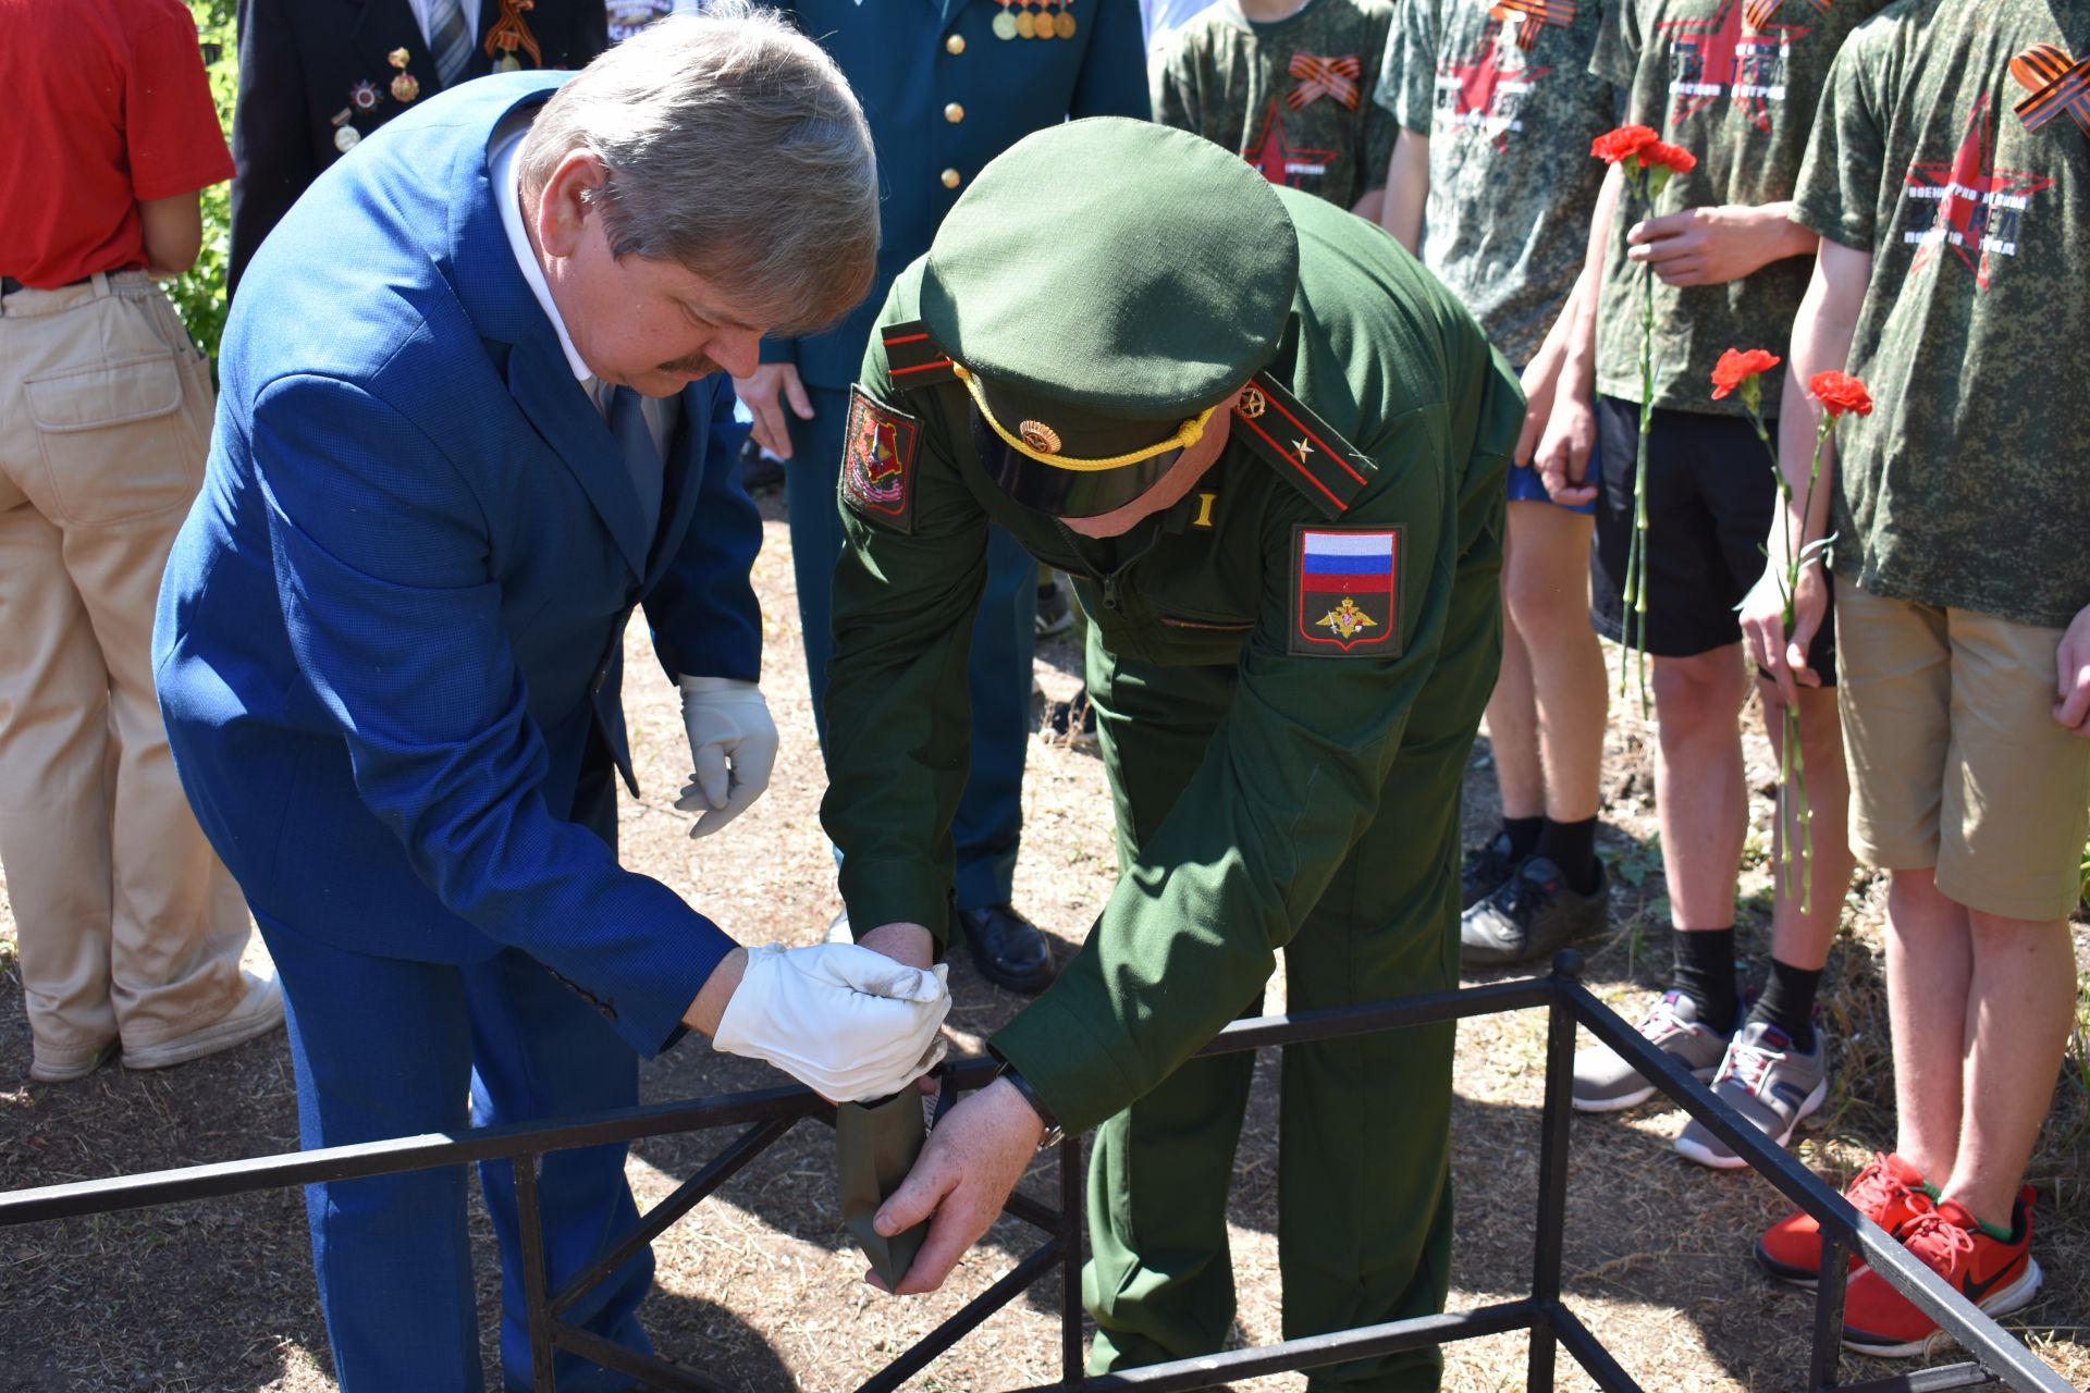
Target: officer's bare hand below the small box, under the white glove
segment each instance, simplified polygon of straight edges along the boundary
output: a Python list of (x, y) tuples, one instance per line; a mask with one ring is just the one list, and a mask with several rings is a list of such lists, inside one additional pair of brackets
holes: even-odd
[(903, 1297), (943, 1286), (957, 1259), (1001, 1218), (1001, 1205), (1024, 1178), (1043, 1136), (1045, 1124), (1007, 1080), (995, 1080), (953, 1107), (874, 1220), (886, 1236), (930, 1220), (922, 1251), (897, 1289), (876, 1272), (865, 1272), (863, 1280)]

